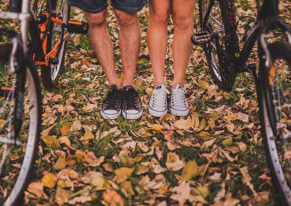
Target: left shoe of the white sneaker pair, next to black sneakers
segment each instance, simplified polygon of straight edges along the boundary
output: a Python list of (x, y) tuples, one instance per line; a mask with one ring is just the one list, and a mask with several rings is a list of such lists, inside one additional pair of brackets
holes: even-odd
[(170, 91), (164, 84), (158, 85), (154, 88), (148, 104), (148, 112), (153, 117), (160, 118), (168, 113), (167, 94), (170, 94)]

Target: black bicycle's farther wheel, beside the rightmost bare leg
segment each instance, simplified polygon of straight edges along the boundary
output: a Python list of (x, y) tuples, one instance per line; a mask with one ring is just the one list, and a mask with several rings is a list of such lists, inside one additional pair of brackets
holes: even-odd
[(232, 0), (199, 0), (201, 31), (215, 34), (204, 46), (215, 84), (229, 91), (235, 80), (230, 62), (239, 57), (235, 11)]

